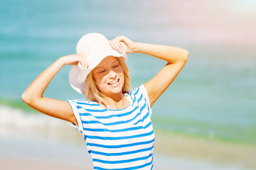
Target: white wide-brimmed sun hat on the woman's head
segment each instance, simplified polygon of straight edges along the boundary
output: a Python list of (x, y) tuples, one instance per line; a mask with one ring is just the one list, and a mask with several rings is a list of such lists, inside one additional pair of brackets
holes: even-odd
[(79, 62), (78, 66), (75, 65), (70, 69), (69, 81), (72, 88), (80, 94), (85, 94), (87, 75), (107, 56), (124, 57), (124, 61), (127, 62), (127, 47), (124, 42), (120, 42), (120, 44), (122, 49), (116, 51), (110, 46), (107, 38), (100, 33), (83, 35), (78, 41), (76, 51), (85, 53), (88, 67), (82, 68)]

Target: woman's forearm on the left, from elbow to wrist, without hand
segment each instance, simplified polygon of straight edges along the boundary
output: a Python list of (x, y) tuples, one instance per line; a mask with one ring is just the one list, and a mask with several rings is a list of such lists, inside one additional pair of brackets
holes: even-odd
[(21, 98), (25, 103), (33, 103), (37, 98), (42, 98), (43, 93), (46, 90), (50, 81), (65, 65), (63, 60), (58, 59), (50, 65), (45, 71), (43, 71), (32, 83), (26, 91), (23, 92)]

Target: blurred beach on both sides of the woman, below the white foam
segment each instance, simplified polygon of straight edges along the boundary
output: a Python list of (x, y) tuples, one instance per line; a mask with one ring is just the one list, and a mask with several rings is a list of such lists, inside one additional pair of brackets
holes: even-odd
[[(65, 140), (49, 135), (1, 136), (0, 169), (93, 169), (79, 133), (67, 130)], [(156, 132), (157, 170), (251, 170), (256, 169), (255, 157), (255, 147)]]

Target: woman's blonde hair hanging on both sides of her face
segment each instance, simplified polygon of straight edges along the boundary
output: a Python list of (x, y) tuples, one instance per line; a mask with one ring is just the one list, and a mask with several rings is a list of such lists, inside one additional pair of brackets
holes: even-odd
[[(124, 72), (124, 86), (122, 86), (122, 93), (123, 94), (129, 93), (129, 91), (131, 90), (131, 84), (130, 84), (131, 77), (129, 76), (129, 68), (126, 62), (124, 62), (123, 57), (117, 57), (117, 60)], [(103, 94), (101, 94), (100, 90), (97, 88), (95, 84), (95, 80), (93, 79), (93, 76), (92, 76), (92, 72), (88, 74), (85, 81), (85, 97), (89, 101), (96, 101), (97, 103), (104, 104), (104, 99), (102, 98)]]

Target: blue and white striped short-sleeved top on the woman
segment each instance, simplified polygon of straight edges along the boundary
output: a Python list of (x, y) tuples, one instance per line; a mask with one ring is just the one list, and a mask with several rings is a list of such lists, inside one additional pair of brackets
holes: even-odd
[(126, 94), (129, 106), (106, 109), (94, 101), (68, 100), (87, 142), (94, 169), (153, 169), (154, 130), (144, 85)]

